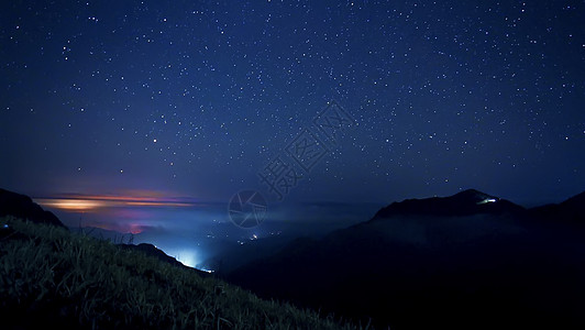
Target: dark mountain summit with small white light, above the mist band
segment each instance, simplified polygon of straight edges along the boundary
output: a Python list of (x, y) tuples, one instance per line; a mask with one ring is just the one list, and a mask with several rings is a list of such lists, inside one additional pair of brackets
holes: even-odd
[(380, 209), (374, 219), (395, 216), (461, 217), (481, 213), (518, 213), (525, 208), (508, 200), (467, 189), (449, 197), (406, 199)]

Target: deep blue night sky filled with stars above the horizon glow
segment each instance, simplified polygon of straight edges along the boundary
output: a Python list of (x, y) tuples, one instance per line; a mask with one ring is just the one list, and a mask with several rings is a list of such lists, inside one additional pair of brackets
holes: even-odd
[(583, 1), (2, 1), (0, 187), (275, 202), (258, 172), (339, 105), (351, 128), (282, 202), (561, 201), (585, 189), (584, 19)]

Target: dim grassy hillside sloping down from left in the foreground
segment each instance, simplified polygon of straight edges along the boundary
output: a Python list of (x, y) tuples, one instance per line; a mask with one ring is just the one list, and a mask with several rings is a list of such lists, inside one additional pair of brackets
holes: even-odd
[(0, 328), (355, 329), (110, 242), (0, 218)]

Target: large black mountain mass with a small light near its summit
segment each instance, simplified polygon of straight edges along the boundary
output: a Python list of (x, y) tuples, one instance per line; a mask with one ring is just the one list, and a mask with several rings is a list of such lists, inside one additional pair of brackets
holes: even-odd
[(229, 279), (379, 328), (584, 329), (583, 233), (467, 190), (393, 204)]

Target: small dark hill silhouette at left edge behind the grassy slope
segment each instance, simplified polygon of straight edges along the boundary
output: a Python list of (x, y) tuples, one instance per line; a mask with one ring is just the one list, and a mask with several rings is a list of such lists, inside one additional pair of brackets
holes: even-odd
[(43, 210), (29, 196), (0, 188), (0, 217), (4, 216), (13, 216), (29, 219), (35, 223), (48, 223), (66, 228), (55, 215)]

